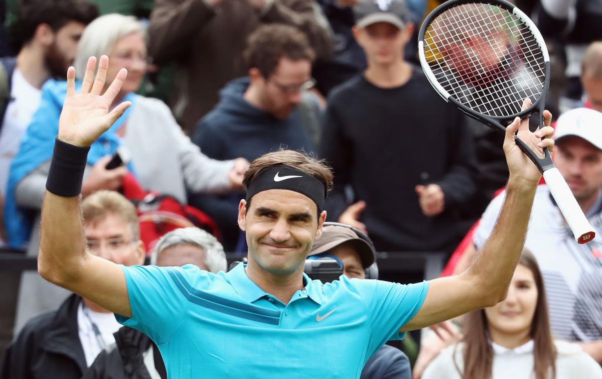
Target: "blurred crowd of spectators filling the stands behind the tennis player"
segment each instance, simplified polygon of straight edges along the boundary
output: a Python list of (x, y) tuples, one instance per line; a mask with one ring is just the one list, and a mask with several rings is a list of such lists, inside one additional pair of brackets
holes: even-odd
[[(247, 249), (237, 225), (244, 171), (287, 148), (334, 168), (327, 221), (355, 229), (329, 226), (335, 237), (324, 229), (321, 243), (332, 241), (328, 253), (347, 276), (363, 279), (367, 268), (348, 243), (356, 232), (370, 236), (374, 256), (449, 256), (468, 232), (451, 261), (452, 271), (464, 270), (495, 225), (504, 193), (492, 196), (507, 168), (503, 136), (441, 100), (416, 63), (417, 28), (440, 2), (1, 2), (0, 246), (37, 256), (67, 67), (81, 80), (88, 57), (106, 55), (107, 83), (128, 69), (113, 106), (132, 106), (88, 154), (82, 206), (90, 252), (125, 265), (148, 255), (151, 264), (225, 271), (224, 251)], [(564, 62), (554, 161), (602, 231), (602, 2), (517, 4)], [(219, 232), (176, 229), (146, 251), (137, 218), (144, 209), (128, 197), (131, 183), (197, 208)], [(539, 379), (550, 369), (562, 379), (575, 365), (579, 377), (602, 377), (602, 243), (577, 245), (542, 184), (526, 247), (508, 299), (423, 333), (414, 378)], [(30, 271), (2, 274), (0, 284), (8, 305), (0, 307), (0, 378), (166, 377), (154, 342), (104, 309)], [(507, 327), (512, 317), (523, 324)], [(383, 349), (362, 378), (409, 378), (408, 358)]]

